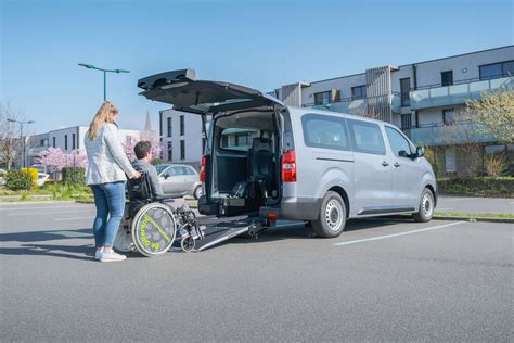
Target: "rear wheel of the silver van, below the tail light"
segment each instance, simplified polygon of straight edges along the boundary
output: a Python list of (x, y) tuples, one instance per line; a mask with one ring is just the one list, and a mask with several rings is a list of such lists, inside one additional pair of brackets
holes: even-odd
[(336, 192), (326, 192), (318, 219), (311, 221), (312, 231), (318, 237), (334, 238), (343, 232), (345, 224), (346, 206), (343, 198)]

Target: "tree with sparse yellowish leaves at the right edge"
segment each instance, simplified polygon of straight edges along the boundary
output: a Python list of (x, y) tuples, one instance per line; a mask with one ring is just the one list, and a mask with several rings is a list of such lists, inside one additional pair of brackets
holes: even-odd
[(467, 101), (466, 109), (473, 122), (478, 123), (479, 134), (493, 136), (505, 144), (514, 142), (514, 89), (486, 92), (479, 100)]

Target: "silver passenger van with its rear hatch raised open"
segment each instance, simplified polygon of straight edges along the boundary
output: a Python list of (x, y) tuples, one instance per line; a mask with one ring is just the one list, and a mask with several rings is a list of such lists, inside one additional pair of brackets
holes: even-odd
[(286, 106), (250, 88), (196, 80), (192, 69), (149, 76), (138, 86), (150, 100), (202, 116), (202, 214), (306, 220), (326, 238), (340, 234), (349, 218), (432, 219), (432, 166), (394, 125)]

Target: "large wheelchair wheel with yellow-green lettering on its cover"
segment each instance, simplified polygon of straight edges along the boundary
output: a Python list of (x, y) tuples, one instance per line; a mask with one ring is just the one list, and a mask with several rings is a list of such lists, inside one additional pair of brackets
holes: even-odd
[(171, 209), (160, 203), (141, 207), (132, 221), (132, 241), (144, 256), (165, 254), (174, 244), (176, 221)]

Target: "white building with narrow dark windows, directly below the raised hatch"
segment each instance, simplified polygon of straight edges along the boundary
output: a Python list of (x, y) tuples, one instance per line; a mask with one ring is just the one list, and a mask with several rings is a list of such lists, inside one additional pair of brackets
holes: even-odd
[(175, 110), (159, 112), (159, 135), (164, 163), (184, 163), (195, 167), (202, 158), (205, 138), (202, 116)]

